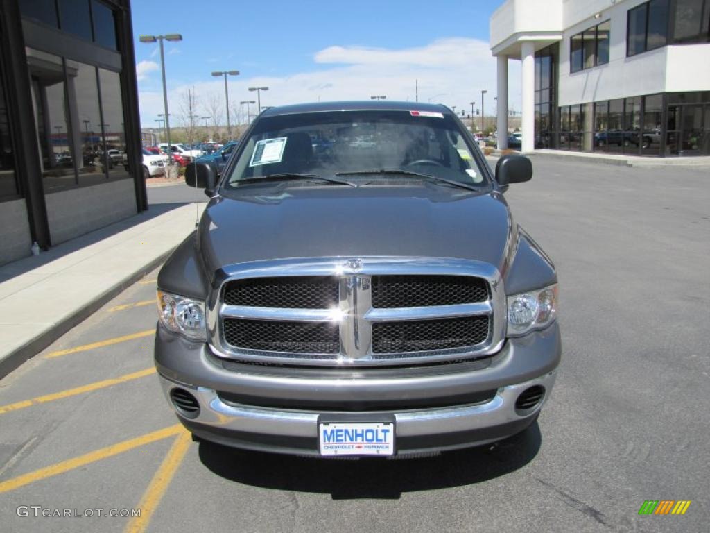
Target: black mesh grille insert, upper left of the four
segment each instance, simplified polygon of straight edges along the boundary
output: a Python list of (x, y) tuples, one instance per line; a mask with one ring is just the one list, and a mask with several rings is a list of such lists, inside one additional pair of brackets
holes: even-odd
[(338, 304), (338, 279), (288, 276), (229, 281), (224, 289), (229, 306), (327, 309)]

